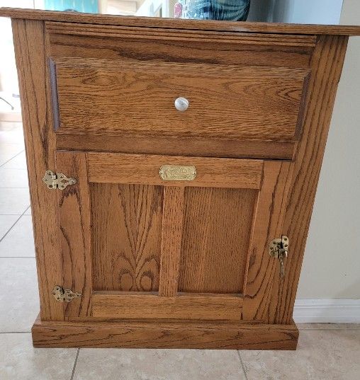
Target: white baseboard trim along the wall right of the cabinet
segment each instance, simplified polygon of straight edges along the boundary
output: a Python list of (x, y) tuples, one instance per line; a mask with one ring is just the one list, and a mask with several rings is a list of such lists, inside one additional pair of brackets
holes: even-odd
[(360, 323), (360, 299), (296, 299), (297, 323)]

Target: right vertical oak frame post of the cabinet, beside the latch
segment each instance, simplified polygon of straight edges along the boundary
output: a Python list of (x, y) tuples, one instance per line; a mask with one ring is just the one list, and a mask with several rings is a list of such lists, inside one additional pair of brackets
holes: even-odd
[(283, 228), (292, 242), (291, 251), (286, 261), (286, 277), (273, 288), (269, 306), (274, 323), (288, 323), (292, 318), (317, 181), (337, 84), (347, 50), (347, 40), (347, 37), (320, 37), (313, 55), (313, 75), (307, 112), (296, 154), (293, 181), (288, 192)]

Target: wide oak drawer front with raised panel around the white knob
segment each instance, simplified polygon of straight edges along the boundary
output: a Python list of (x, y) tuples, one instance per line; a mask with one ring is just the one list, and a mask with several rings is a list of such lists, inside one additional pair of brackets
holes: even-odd
[(293, 158), (314, 36), (67, 23), (46, 33), (58, 148)]

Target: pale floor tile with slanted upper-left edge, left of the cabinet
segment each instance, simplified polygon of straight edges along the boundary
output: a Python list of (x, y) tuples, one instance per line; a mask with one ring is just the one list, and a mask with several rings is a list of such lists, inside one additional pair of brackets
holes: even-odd
[(0, 241), (0, 257), (35, 257), (33, 222), (23, 215)]

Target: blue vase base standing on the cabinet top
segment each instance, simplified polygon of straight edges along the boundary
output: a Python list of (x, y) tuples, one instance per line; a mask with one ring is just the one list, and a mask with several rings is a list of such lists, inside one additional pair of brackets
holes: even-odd
[(182, 18), (245, 21), (250, 0), (181, 0)]

